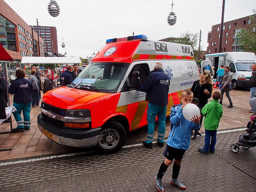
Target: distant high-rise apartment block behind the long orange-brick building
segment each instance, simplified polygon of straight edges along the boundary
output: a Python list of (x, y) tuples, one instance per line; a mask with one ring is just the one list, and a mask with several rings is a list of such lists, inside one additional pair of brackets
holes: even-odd
[[(37, 33), (37, 26), (32, 26)], [(38, 26), (39, 36), (44, 40), (45, 57), (52, 57), (54, 53), (58, 55), (58, 39), (56, 27)]]

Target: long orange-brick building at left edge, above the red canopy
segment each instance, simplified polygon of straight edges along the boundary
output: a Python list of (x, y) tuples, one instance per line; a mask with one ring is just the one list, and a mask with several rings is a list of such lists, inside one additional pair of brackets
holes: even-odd
[[(22, 56), (44, 57), (44, 40), (3, 0), (0, 0), (0, 42), (17, 62)], [(38, 44), (39, 42), (39, 44)]]

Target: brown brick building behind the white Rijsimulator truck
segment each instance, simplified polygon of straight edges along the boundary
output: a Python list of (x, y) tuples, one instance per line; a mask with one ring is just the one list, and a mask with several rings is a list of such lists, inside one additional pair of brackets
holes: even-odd
[[(250, 28), (250, 16), (242, 17), (236, 20), (227, 21), (223, 25), (223, 38), (221, 52), (242, 52), (243, 46), (236, 34), (239, 28)], [(255, 29), (254, 29), (255, 30)], [(207, 53), (219, 52), (220, 43), (220, 24), (213, 25), (212, 31), (208, 32)]]

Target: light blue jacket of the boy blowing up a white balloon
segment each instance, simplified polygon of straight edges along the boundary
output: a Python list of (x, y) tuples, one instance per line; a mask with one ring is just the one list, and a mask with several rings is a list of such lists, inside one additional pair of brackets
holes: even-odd
[[(182, 105), (173, 105), (171, 108), (170, 120), (171, 131), (169, 133), (166, 144), (178, 149), (188, 150), (190, 144), (191, 128), (197, 130), (199, 124), (188, 121), (182, 115)], [(172, 126), (173, 125), (173, 126)]]

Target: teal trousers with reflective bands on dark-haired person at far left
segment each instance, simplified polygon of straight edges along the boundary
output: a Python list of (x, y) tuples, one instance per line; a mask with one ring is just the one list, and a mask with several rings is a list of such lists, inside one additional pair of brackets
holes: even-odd
[[(15, 118), (15, 121), (17, 122), (17, 128), (18, 129), (30, 129), (30, 106), (31, 106), (31, 102), (30, 103), (13, 103), (13, 106), (17, 109), (17, 111), (13, 112), (13, 116)], [(21, 114), (21, 110), (23, 113), (23, 117), (24, 117), (24, 123), (22, 122), (22, 118), (20, 116)]]

